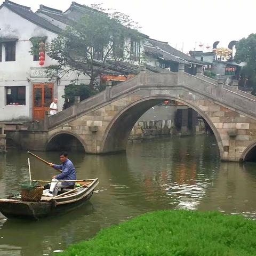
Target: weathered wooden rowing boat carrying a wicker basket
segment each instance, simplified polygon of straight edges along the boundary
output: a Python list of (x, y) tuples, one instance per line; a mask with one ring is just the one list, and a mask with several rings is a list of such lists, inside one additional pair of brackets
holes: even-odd
[(62, 194), (55, 197), (42, 196), (39, 202), (25, 202), (21, 199), (0, 199), (0, 212), (6, 218), (41, 219), (50, 215), (60, 214), (75, 209), (89, 200), (98, 178), (79, 182), (80, 187), (63, 189)]

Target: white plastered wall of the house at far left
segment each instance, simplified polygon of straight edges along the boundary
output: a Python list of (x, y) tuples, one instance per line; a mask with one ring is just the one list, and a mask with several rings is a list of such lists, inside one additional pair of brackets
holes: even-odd
[[(0, 62), (0, 122), (1, 121), (23, 121), (33, 118), (33, 84), (54, 83), (54, 97), (59, 99), (59, 109), (62, 109), (65, 85), (76, 77), (75, 73), (68, 74), (57, 82), (49, 77), (30, 77), (30, 68), (40, 69), (38, 61), (33, 61), (33, 55), (29, 53), (32, 46), (29, 39), (35, 36), (47, 36), (46, 43), (52, 41), (57, 34), (52, 33), (34, 23), (11, 12), (5, 6), (0, 9), (0, 37), (18, 38), (16, 43), (15, 61), (5, 62), (4, 47), (2, 51), (2, 62)], [(57, 62), (45, 56), (45, 65), (54, 65)], [(80, 83), (88, 81), (87, 77), (81, 76)], [(26, 86), (26, 106), (6, 106), (6, 86)]]

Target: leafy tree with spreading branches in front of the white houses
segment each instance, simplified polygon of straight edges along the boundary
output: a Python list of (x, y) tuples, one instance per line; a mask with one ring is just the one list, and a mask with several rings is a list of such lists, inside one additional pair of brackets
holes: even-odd
[[(58, 71), (60, 76), (71, 71), (90, 77), (89, 87), (95, 90), (99, 77), (106, 70), (119, 69), (124, 63), (134, 62), (131, 55), (135, 49), (132, 42), (141, 39), (137, 25), (127, 15), (107, 13), (93, 5), (90, 14), (85, 14), (72, 27), (47, 45), (47, 54), (58, 61), (49, 70)], [(49, 72), (50, 73), (50, 72)]]

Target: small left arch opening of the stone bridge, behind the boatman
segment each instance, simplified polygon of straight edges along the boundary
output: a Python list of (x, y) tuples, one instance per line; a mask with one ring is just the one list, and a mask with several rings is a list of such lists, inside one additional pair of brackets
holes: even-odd
[(79, 135), (71, 131), (55, 132), (47, 140), (45, 151), (84, 151), (86, 145)]

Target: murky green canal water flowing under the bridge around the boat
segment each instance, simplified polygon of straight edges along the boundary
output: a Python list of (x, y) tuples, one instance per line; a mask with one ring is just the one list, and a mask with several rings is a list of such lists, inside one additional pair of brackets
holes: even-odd
[[(38, 155), (59, 163), (53, 152)], [(28, 155), (10, 149), (0, 155), (0, 197), (20, 191), (28, 179)], [(39, 221), (9, 220), (0, 213), (0, 255), (51, 255), (93, 237), (101, 228), (162, 209), (216, 210), (256, 219), (256, 164), (220, 162), (213, 136), (147, 141), (126, 154), (72, 153), (77, 177), (99, 178), (89, 203)], [(33, 179), (56, 172), (30, 157)]]

